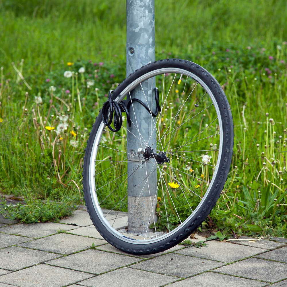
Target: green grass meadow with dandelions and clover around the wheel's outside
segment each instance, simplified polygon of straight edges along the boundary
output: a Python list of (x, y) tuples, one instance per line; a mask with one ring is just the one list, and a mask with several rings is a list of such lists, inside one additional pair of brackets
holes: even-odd
[[(219, 228), (223, 236), (287, 231), (285, 5), (156, 1), (157, 59), (202, 65), (222, 84), (232, 108), (232, 166), (202, 226)], [(83, 201), (88, 133), (105, 94), (125, 77), (125, 7), (117, 1), (2, 1), (0, 32), (0, 191), (22, 194), (26, 202), (57, 200), (60, 211)], [(85, 73), (63, 77), (81, 67)], [(38, 203), (32, 200), (30, 208)], [(18, 218), (27, 213), (23, 208)]]

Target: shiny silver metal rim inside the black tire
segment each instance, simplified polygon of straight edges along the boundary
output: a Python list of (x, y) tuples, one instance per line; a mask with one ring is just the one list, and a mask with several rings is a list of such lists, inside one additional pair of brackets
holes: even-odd
[(92, 146), (92, 152), (91, 152), (91, 156), (90, 156), (90, 166), (89, 166), (89, 187), (90, 187), (90, 195), (92, 198), (92, 203), (94, 206), (94, 209), (98, 215), (98, 218), (101, 220), (102, 224), (105, 226), (105, 228), (111, 233), (113, 234), (115, 237), (119, 238), (121, 241), (127, 242), (127, 243), (132, 243), (135, 245), (143, 245), (143, 244), (152, 244), (152, 243), (156, 243), (159, 241), (162, 241), (170, 236), (172, 236), (173, 234), (175, 234), (177, 231), (179, 231), (181, 228), (184, 228), (186, 226), (186, 224), (188, 224), (188, 222), (197, 214), (197, 211), (199, 210), (199, 208), (201, 208), (201, 206), (205, 203), (206, 198), (208, 197), (208, 195), (210, 194), (210, 191), (212, 189), (212, 186), (214, 184), (214, 181), (216, 179), (216, 176), (218, 174), (218, 169), (219, 169), (219, 163), (220, 163), (220, 159), (221, 159), (221, 154), (222, 154), (222, 142), (223, 142), (223, 130), (222, 130), (222, 120), (220, 117), (220, 111), (219, 111), (219, 107), (218, 104), (216, 102), (216, 99), (214, 98), (214, 95), (212, 94), (211, 90), (208, 88), (207, 84), (205, 84), (205, 82), (200, 79), (198, 76), (196, 76), (195, 74), (184, 70), (184, 69), (179, 69), (179, 68), (162, 68), (162, 69), (156, 69), (154, 71), (150, 71), (149, 73), (146, 73), (144, 75), (142, 75), (141, 77), (137, 78), (135, 81), (133, 81), (131, 84), (129, 84), (121, 93), (120, 95), (115, 99), (116, 102), (120, 102), (129, 91), (133, 90), (133, 88), (135, 88), (136, 86), (139, 85), (139, 83), (151, 78), (151, 77), (155, 77), (156, 75), (160, 75), (160, 74), (166, 74), (166, 73), (176, 73), (176, 74), (183, 74), (187, 77), (191, 77), (192, 79), (194, 79), (196, 82), (198, 82), (207, 92), (207, 94), (209, 95), (210, 99), (212, 100), (212, 104), (214, 105), (214, 108), (216, 110), (216, 114), (217, 114), (217, 119), (218, 119), (218, 124), (219, 124), (219, 150), (218, 150), (218, 158), (217, 158), (217, 162), (216, 162), (216, 168), (214, 170), (214, 174), (212, 175), (212, 180), (209, 184), (209, 187), (207, 189), (207, 191), (205, 192), (205, 195), (202, 197), (200, 203), (197, 205), (197, 207), (195, 208), (195, 210), (193, 210), (193, 212), (185, 219), (184, 222), (182, 222), (179, 226), (177, 226), (176, 228), (174, 228), (173, 230), (171, 230), (170, 232), (168, 232), (167, 234), (164, 234), (162, 236), (159, 236), (157, 238), (153, 238), (153, 239), (147, 239), (147, 240), (134, 240), (134, 239), (129, 239), (127, 238), (124, 234), (121, 234), (120, 232), (118, 232), (117, 230), (115, 230), (113, 227), (110, 226), (108, 220), (106, 220), (106, 218), (104, 217), (104, 214), (102, 212), (102, 209), (99, 205), (99, 201), (98, 201), (98, 197), (96, 194), (96, 184), (95, 184), (95, 180), (94, 180), (94, 172), (95, 172), (95, 164), (96, 164), (96, 156), (97, 156), (97, 152), (98, 152), (98, 145), (100, 143), (100, 140), (102, 138), (102, 134), (103, 134), (103, 130), (105, 129), (105, 125), (101, 122), (100, 126), (98, 128), (96, 137), (94, 139), (93, 142), (93, 146)]

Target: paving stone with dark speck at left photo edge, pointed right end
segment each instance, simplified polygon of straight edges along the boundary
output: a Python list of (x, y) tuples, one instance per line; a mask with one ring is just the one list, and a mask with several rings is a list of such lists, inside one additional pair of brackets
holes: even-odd
[(59, 255), (12, 246), (0, 250), (0, 268), (16, 271), (56, 257)]

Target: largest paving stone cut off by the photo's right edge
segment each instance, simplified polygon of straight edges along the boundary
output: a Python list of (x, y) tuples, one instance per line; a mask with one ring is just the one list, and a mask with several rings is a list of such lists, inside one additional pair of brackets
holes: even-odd
[(215, 272), (232, 274), (266, 282), (276, 282), (287, 277), (287, 264), (264, 259), (249, 258), (227, 266)]

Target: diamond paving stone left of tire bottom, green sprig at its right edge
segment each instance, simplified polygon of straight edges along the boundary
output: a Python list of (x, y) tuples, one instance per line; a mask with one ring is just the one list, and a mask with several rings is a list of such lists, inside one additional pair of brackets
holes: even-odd
[(22, 243), (20, 245), (44, 251), (70, 254), (76, 251), (80, 251), (82, 249), (89, 248), (92, 243), (97, 246), (105, 244), (107, 242), (95, 238), (59, 233), (41, 239), (36, 239), (30, 242)]

